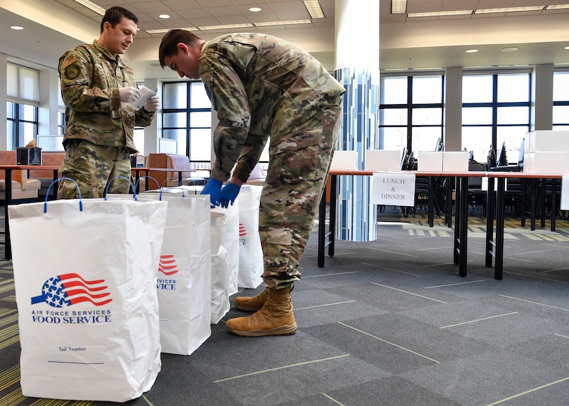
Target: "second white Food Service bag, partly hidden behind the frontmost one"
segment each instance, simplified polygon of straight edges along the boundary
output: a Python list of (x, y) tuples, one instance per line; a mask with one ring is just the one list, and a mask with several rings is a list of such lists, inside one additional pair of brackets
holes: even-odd
[(144, 193), (168, 202), (156, 287), (162, 352), (190, 355), (211, 335), (210, 199), (206, 195)]

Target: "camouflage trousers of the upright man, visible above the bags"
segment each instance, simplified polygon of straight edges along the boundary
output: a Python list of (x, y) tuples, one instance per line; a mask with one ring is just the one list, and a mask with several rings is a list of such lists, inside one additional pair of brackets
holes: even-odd
[[(108, 182), (117, 176), (131, 179), (130, 152), (126, 148), (95, 145), (85, 140), (71, 140), (66, 157), (59, 168), (62, 177), (73, 179), (79, 185), (81, 198), (105, 196)], [(122, 178), (112, 181), (108, 193), (128, 193), (130, 183)], [(59, 181), (58, 199), (79, 197), (72, 181)]]

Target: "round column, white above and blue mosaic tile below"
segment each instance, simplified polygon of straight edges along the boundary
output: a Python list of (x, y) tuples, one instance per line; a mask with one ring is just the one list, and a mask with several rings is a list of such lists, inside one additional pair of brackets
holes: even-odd
[[(379, 1), (336, 0), (336, 79), (346, 88), (337, 150), (379, 149)], [(377, 206), (370, 204), (371, 176), (339, 176), (336, 238), (377, 238)], [(332, 196), (334, 199), (334, 196)]]

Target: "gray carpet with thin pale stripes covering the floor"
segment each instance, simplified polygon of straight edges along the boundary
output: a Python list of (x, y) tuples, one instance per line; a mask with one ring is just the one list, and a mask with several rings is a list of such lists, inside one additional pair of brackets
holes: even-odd
[[(379, 220), (377, 241), (338, 241), (323, 268), (315, 230), (292, 292), (297, 334), (232, 336), (224, 321), (246, 313), (231, 309), (194, 354), (163, 354), (152, 389), (127, 404), (569, 405), (566, 220), (531, 232), (509, 219), (501, 281), (484, 266), (479, 213), (466, 278), (439, 219), (430, 228), (388, 207)], [(112, 404), (21, 396), (13, 289), (3, 262), (0, 406)]]

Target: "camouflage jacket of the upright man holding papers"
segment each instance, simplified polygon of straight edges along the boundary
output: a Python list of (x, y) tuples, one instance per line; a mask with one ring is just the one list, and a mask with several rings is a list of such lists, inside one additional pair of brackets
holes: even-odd
[(137, 83), (119, 55), (112, 57), (97, 40), (78, 45), (59, 59), (59, 77), (66, 103), (63, 145), (70, 139), (85, 139), (136, 152), (134, 125), (150, 125), (154, 112), (121, 103), (119, 88), (135, 88)]

